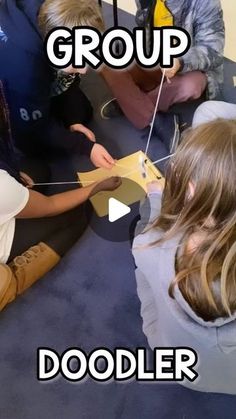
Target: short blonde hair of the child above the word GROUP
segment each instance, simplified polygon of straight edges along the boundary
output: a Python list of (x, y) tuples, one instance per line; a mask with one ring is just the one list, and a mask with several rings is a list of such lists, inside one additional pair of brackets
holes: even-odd
[(96, 0), (45, 0), (38, 15), (39, 29), (43, 36), (59, 26), (91, 26), (104, 30), (101, 9)]

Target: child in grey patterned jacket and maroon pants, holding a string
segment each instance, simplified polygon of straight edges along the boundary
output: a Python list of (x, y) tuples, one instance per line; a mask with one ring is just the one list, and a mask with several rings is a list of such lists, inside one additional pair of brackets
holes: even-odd
[[(215, 98), (223, 83), (224, 22), (219, 0), (141, 0), (137, 1), (137, 23), (146, 27), (147, 38), (153, 27), (177, 26), (191, 37), (191, 48), (166, 69), (155, 130), (160, 140), (170, 137), (171, 147), (178, 142), (178, 119), (166, 114), (176, 103), (198, 99), (206, 91)], [(138, 65), (127, 71), (104, 67), (101, 71), (114, 95), (105, 103), (101, 115), (111, 118), (122, 112), (138, 129), (152, 120), (162, 73), (160, 68), (144, 69)], [(167, 130), (170, 132), (167, 133)], [(174, 136), (176, 138), (174, 138)]]

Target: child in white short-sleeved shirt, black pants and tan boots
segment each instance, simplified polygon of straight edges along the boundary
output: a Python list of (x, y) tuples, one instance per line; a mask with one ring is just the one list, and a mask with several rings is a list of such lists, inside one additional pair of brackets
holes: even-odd
[(18, 169), (0, 84), (0, 311), (76, 243), (88, 223), (88, 198), (119, 185), (113, 177), (53, 196), (30, 190), (32, 180)]

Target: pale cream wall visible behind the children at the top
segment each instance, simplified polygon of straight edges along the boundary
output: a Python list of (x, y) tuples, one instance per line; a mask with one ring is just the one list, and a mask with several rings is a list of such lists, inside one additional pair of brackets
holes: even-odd
[[(112, 0), (105, 1), (112, 4)], [(221, 3), (226, 23), (225, 56), (236, 61), (236, 0), (221, 0)], [(129, 13), (135, 13), (135, 0), (118, 0), (118, 5)]]

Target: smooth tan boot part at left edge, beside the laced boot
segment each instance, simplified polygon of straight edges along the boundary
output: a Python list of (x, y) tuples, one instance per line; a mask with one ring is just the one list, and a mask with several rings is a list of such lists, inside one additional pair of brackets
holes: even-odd
[(7, 265), (0, 264), (0, 311), (16, 298), (16, 279)]

